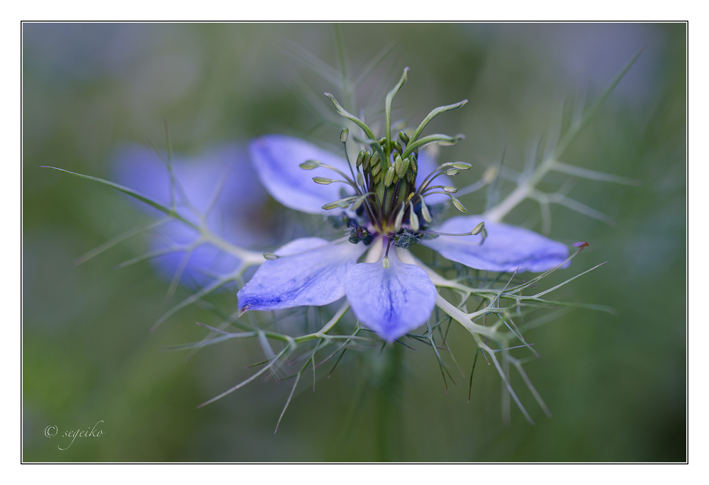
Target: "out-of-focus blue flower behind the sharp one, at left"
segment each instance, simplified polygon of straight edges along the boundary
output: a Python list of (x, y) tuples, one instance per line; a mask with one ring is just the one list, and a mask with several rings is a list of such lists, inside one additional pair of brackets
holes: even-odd
[[(261, 243), (264, 228), (259, 225), (266, 192), (258, 183), (244, 148), (233, 143), (216, 145), (195, 157), (175, 156), (172, 175), (154, 150), (125, 145), (113, 162), (114, 178), (153, 201), (174, 205), (180, 216), (236, 245)], [(171, 189), (172, 186), (172, 189)], [(146, 204), (140, 208), (157, 216)], [(201, 243), (200, 233), (179, 221), (157, 226), (148, 253), (157, 271), (167, 279), (182, 272), (189, 286), (203, 286), (215, 275), (227, 274), (238, 259), (212, 245)]]

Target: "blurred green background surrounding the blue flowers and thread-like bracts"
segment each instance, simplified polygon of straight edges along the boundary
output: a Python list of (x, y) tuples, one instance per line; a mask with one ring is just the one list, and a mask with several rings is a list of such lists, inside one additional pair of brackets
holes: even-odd
[[(110, 177), (122, 143), (148, 137), (164, 146), (163, 118), (174, 150), (185, 154), (265, 133), (322, 140), (336, 150), (342, 124), (319, 94), (342, 92), (298, 55), (310, 52), (340, 72), (336, 29), (25, 23), (23, 459), (685, 460), (686, 26), (345, 24), (341, 34), (352, 79), (391, 48), (354, 93), (357, 106), (374, 107), (370, 118), (405, 66), (411, 72), (395, 118), (416, 124), (435, 106), (469, 100), (430, 128), (467, 136), (441, 151), (443, 161), (474, 163), (458, 186), (479, 177), (503, 150), (506, 165), (520, 169), (525, 150), (545, 135), (564, 99), (573, 104), (586, 92), (588, 106), (644, 48), (562, 160), (640, 179), (642, 186), (574, 184), (569, 195), (612, 216), (615, 227), (552, 206), (550, 237), (591, 243), (559, 279), (608, 261), (557, 297), (618, 310), (618, 316), (571, 311), (527, 334), (542, 355), (527, 364), (527, 373), (553, 418), (515, 377), (537, 424), (513, 408), (511, 425), (503, 425), (493, 367), (478, 362), (468, 403), (467, 379), (449, 382), (446, 392), (425, 347), (396, 356), (347, 352), (330, 379), (323, 366), (316, 391), (308, 379), (301, 384), (276, 434), (287, 383), (257, 380), (197, 409), (247, 377), (244, 367), (261, 359), (259, 347), (225, 342), (186, 363), (182, 352), (163, 352), (198, 340), (204, 330), (195, 321), (214, 324), (216, 317), (192, 306), (150, 333), (170, 306), (169, 283), (147, 262), (113, 269), (144, 252), (146, 238), (73, 263), (147, 216), (116, 191), (40, 165)], [(463, 202), (477, 213), (484, 195)], [(273, 201), (269, 211), (282, 213)], [(506, 221), (541, 228), (531, 203)], [(179, 289), (175, 298), (188, 294)], [(212, 301), (236, 307), (233, 292)], [(451, 332), (467, 374), (473, 344), (458, 328)], [(402, 379), (382, 370), (393, 357), (403, 360)], [(57, 449), (70, 442), (61, 437), (66, 430), (99, 420), (104, 435)], [(45, 437), (48, 425), (59, 435)]]

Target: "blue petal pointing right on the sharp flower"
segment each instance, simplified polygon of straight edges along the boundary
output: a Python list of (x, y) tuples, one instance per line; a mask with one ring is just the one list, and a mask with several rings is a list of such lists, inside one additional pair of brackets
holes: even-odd
[[(482, 221), (482, 216), (457, 216), (442, 223), (437, 231), (468, 233)], [(561, 264), (569, 255), (566, 245), (531, 230), (488, 222), (485, 228), (488, 238), (482, 245), (481, 235), (439, 236), (421, 244), (451, 261), (486, 271), (543, 272)]]

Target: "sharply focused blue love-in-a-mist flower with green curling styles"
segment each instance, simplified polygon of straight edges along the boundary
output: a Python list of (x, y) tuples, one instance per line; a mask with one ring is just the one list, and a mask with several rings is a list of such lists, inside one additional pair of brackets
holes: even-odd
[[(335, 241), (296, 239), (266, 255), (268, 260), (238, 292), (241, 311), (320, 306), (346, 296), (362, 325), (391, 342), (425, 323), (436, 304), (431, 270), (408, 253), (415, 243), (471, 268), (496, 272), (542, 272), (566, 260), (565, 245), (482, 216), (453, 217), (432, 230), (441, 197), (466, 212), (446, 176), (470, 165), (436, 166), (420, 151), (429, 143), (457, 143), (462, 135), (421, 135), (432, 118), (467, 101), (436, 108), (415, 131), (398, 133), (395, 140), (391, 101), (407, 71), (386, 96), (381, 138), (325, 93), (337, 112), (364, 133), (357, 141), (369, 150), (361, 150), (356, 160), (285, 135), (252, 141), (253, 166), (274, 199), (306, 213), (337, 213), (346, 235)], [(345, 128), (340, 135), (345, 157), (347, 139)]]

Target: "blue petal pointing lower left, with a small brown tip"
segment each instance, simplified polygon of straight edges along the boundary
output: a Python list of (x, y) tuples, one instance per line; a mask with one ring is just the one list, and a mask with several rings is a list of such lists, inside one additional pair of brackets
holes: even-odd
[(279, 310), (327, 305), (345, 296), (345, 274), (367, 250), (364, 244), (328, 243), (320, 238), (291, 241), (275, 252), (281, 256), (259, 267), (239, 290), (239, 309)]

